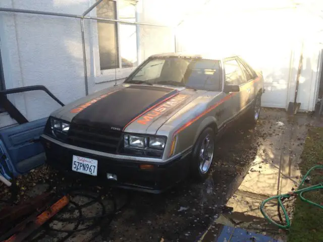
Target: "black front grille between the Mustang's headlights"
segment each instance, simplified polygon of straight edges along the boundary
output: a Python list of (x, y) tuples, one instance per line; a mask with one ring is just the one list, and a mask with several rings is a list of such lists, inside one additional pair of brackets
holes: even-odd
[(68, 133), (70, 145), (115, 154), (122, 132), (72, 124)]

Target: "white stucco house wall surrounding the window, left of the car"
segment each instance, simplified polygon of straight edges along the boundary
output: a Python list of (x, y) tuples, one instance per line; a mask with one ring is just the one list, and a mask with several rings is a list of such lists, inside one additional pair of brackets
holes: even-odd
[[(95, 0), (2, 0), (0, 7), (81, 15), (93, 3)], [(139, 1), (138, 21), (153, 19), (148, 8)], [(89, 15), (96, 16), (95, 9)], [(167, 28), (140, 26), (138, 34), (140, 62), (150, 54), (175, 50), (173, 32)], [(115, 71), (100, 71), (94, 20), (85, 20), (85, 43), (89, 93), (113, 86)], [(0, 45), (7, 89), (44, 85), (63, 103), (85, 96), (80, 19), (0, 12)], [(129, 73), (119, 71), (117, 83)], [(46, 117), (60, 107), (42, 91), (12, 94), (9, 99), (28, 120)], [(14, 123), (8, 114), (0, 114), (0, 128)]]

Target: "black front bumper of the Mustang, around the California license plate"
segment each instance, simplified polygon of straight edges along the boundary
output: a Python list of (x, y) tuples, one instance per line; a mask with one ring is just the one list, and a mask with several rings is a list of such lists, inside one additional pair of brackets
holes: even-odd
[[(46, 152), (46, 163), (50, 166), (67, 172), (69, 176), (80, 179), (90, 179), (95, 183), (108, 184), (114, 187), (144, 191), (149, 193), (160, 193), (173, 187), (176, 183), (185, 178), (189, 172), (189, 158), (191, 151), (183, 153), (174, 160), (167, 163), (156, 163), (135, 160), (118, 159), (107, 157), (97, 152), (85, 152), (77, 149), (78, 147), (65, 147), (64, 143), (56, 142), (52, 138), (41, 136)], [(73, 155), (95, 159), (97, 164), (97, 176), (87, 175), (72, 170)], [(122, 157), (122, 156), (121, 156)], [(141, 164), (153, 164), (154, 169), (140, 169)], [(117, 175), (117, 181), (107, 179), (106, 174)]]

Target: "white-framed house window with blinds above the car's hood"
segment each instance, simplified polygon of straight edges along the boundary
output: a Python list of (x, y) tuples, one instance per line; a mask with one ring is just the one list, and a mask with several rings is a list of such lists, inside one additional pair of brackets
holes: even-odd
[[(97, 17), (135, 21), (136, 1), (103, 0)], [(134, 24), (97, 21), (100, 69), (126, 69), (137, 66), (137, 36)]]

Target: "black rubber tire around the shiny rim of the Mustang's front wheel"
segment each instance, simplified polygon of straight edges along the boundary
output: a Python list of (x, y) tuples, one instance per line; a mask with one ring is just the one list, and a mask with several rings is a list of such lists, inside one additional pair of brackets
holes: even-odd
[[(203, 151), (202, 156), (205, 156), (205, 157), (209, 156), (210, 150), (212, 150), (212, 155), (208, 160), (206, 160), (207, 162), (209, 162), (209, 165), (208, 163), (205, 163), (205, 167), (204, 167), (203, 165), (201, 165), (201, 162), (204, 160), (202, 160), (200, 152), (203, 144), (204, 144), (204, 147), (206, 147), (205, 146), (207, 142), (206, 138), (209, 139), (209, 145), (211, 145), (212, 147), (209, 146), (208, 148), (206, 148), (205, 153), (207, 154), (204, 154), (204, 151)], [(195, 181), (200, 182), (207, 178), (208, 173), (210, 172), (212, 167), (213, 154), (214, 154), (214, 130), (208, 127), (204, 129), (203, 132), (199, 135), (193, 149), (192, 161), (191, 161), (191, 175)]]

